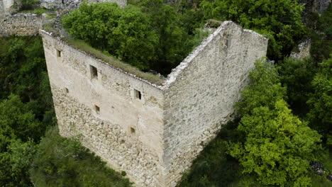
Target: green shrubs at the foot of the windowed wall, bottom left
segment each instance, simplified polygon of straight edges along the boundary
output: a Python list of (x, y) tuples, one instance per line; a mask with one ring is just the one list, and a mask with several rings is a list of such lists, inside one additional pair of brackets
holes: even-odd
[(77, 140), (60, 137), (56, 130), (46, 133), (37, 147), (31, 168), (35, 186), (131, 186)]

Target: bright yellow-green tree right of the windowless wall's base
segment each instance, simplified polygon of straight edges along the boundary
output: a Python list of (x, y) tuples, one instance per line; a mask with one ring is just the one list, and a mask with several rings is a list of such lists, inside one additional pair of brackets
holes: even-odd
[(239, 160), (243, 173), (255, 174), (262, 185), (310, 186), (309, 162), (321, 136), (292, 115), (282, 100), (285, 89), (275, 67), (266, 62), (255, 67), (238, 103), (243, 115), (238, 130), (245, 142), (230, 143), (228, 152)]

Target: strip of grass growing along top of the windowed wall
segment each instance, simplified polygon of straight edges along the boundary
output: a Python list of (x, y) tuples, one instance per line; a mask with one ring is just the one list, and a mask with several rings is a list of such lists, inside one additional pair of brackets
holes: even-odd
[(87, 52), (89, 55), (92, 55), (99, 60), (107, 62), (108, 64), (111, 64), (112, 66), (118, 69), (122, 69), (124, 72), (135, 74), (136, 77), (145, 79), (152, 84), (162, 85), (162, 83), (164, 82), (164, 79), (162, 79), (162, 77), (158, 77), (155, 74), (141, 72), (138, 68), (133, 67), (130, 64), (125, 64), (120, 60), (116, 60), (115, 57), (105, 55), (103, 52), (101, 52), (100, 50), (96, 50), (94, 47), (91, 47), (83, 40), (75, 40), (70, 38), (62, 38), (62, 40), (64, 40), (65, 42), (67, 42), (67, 44), (71, 45), (77, 50), (82, 50), (84, 52)]

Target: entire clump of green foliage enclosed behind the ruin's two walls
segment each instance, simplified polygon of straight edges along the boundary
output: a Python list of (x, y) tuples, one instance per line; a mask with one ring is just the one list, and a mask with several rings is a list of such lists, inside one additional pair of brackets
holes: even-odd
[(84, 2), (64, 16), (62, 23), (74, 38), (143, 71), (154, 69), (162, 74), (169, 73), (206, 37), (201, 30), (181, 27), (175, 8), (161, 0), (123, 9), (115, 3)]

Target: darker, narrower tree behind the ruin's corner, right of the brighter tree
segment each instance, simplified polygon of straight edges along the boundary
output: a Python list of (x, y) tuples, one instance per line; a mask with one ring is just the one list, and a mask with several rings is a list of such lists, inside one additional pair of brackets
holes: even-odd
[(179, 26), (179, 16), (172, 6), (163, 3), (162, 0), (145, 0), (141, 6), (143, 12), (149, 15), (150, 24), (159, 35), (155, 69), (167, 74), (189, 53), (186, 51), (187, 48), (184, 48), (188, 36)]

